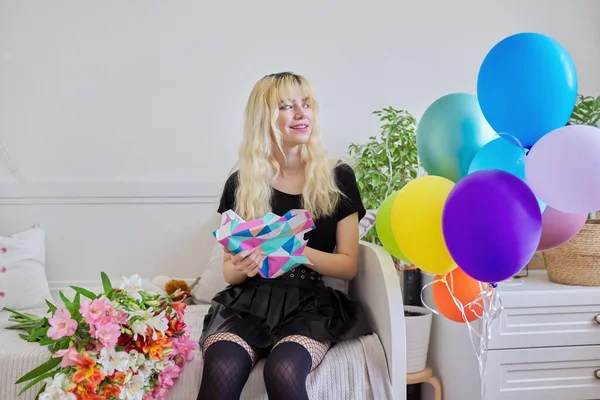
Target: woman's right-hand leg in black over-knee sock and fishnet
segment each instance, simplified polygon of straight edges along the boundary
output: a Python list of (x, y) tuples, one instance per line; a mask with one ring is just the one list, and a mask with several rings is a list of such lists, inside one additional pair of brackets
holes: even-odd
[(271, 350), (263, 371), (269, 399), (308, 400), (306, 378), (317, 368), (330, 344), (292, 335)]

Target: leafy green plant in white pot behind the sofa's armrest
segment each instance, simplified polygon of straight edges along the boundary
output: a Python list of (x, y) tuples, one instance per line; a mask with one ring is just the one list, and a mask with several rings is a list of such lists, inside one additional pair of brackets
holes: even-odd
[[(379, 117), (380, 134), (369, 137), (367, 143), (352, 143), (348, 147), (358, 188), (368, 210), (376, 210), (386, 197), (402, 189), (420, 172), (415, 117), (406, 110), (393, 107), (376, 110), (373, 114)], [(376, 229), (370, 229), (363, 240), (381, 245)], [(400, 272), (400, 260), (394, 261)], [(420, 277), (419, 270), (415, 269), (414, 273)], [(420, 279), (416, 283), (420, 293)], [(425, 307), (405, 305), (404, 316), (407, 372), (419, 372), (427, 361), (432, 313)]]

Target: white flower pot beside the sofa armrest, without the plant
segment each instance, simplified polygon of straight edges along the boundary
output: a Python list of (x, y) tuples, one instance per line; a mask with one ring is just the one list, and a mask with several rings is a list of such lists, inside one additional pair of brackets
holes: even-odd
[(406, 372), (413, 374), (423, 371), (427, 366), (433, 315), (425, 307), (404, 306), (404, 317), (406, 321)]

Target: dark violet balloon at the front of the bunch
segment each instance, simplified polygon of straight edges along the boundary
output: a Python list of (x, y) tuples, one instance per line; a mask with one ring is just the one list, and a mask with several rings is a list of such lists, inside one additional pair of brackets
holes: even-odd
[(444, 206), (442, 229), (459, 268), (480, 282), (496, 283), (531, 260), (542, 234), (542, 214), (523, 180), (487, 169), (456, 183)]

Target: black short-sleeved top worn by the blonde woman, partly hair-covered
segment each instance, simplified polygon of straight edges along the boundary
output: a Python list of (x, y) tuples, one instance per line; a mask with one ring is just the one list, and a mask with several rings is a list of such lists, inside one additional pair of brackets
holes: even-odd
[[(360, 221), (366, 214), (352, 168), (348, 164), (341, 163), (336, 165), (334, 173), (338, 188), (345, 196), (342, 196), (336, 211), (331, 216), (314, 220), (316, 229), (305, 235), (309, 247), (328, 253), (333, 253), (336, 247), (338, 221), (353, 213), (358, 213)], [(219, 203), (219, 213), (222, 214), (227, 210), (234, 209), (237, 184), (238, 173), (236, 171), (229, 176), (225, 183)], [(271, 199), (271, 211), (277, 215), (283, 215), (289, 210), (302, 208), (301, 200), (302, 196), (299, 194), (288, 194), (274, 189)]]

